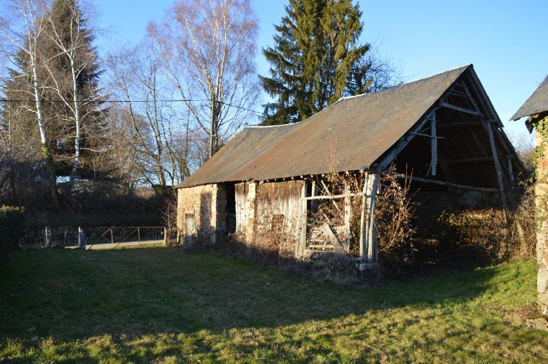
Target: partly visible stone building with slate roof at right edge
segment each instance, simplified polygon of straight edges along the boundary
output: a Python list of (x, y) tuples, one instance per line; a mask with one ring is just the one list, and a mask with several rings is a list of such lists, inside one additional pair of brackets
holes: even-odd
[(529, 132), (535, 130), (536, 259), (539, 263), (536, 285), (540, 311), (548, 315), (548, 76), (511, 120), (523, 117), (527, 117)]

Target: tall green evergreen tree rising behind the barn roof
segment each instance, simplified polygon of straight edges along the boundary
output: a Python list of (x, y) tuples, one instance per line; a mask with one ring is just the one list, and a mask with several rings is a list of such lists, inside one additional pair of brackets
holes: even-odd
[(265, 105), (263, 124), (300, 122), (363, 91), (369, 44), (358, 42), (361, 15), (351, 0), (289, 0), (274, 47), (262, 50), (271, 77), (260, 77), (261, 83), (276, 99)]

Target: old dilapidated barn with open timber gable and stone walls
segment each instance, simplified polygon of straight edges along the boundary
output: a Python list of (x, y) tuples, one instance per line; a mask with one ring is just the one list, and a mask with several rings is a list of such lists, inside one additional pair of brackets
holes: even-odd
[[(376, 194), (389, 167), (430, 203), (463, 207), (488, 195), (506, 212), (505, 186), (526, 173), (467, 65), (344, 97), (299, 123), (243, 129), (176, 186), (179, 236), (215, 243), (239, 233), (252, 241), (277, 230), (297, 259), (334, 251), (372, 268)], [(333, 174), (353, 176), (359, 186), (335, 190)], [(358, 210), (348, 208), (349, 199), (360, 201)], [(313, 226), (317, 204), (329, 200), (343, 217)], [(359, 227), (353, 232), (351, 221)], [(358, 245), (352, 252), (350, 238)]]

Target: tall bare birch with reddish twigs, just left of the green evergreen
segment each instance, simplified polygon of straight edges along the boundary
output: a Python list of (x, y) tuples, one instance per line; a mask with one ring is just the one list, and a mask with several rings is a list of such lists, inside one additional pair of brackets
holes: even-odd
[(250, 120), (258, 96), (255, 40), (258, 21), (249, 0), (183, 0), (167, 13), (158, 39), (167, 78), (198, 130), (209, 158)]

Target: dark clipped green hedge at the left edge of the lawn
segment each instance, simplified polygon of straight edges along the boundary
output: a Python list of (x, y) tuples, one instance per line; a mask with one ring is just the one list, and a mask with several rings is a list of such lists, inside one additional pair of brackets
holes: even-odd
[(0, 207), (0, 266), (5, 263), (8, 253), (19, 247), (24, 232), (25, 213), (19, 207)]

